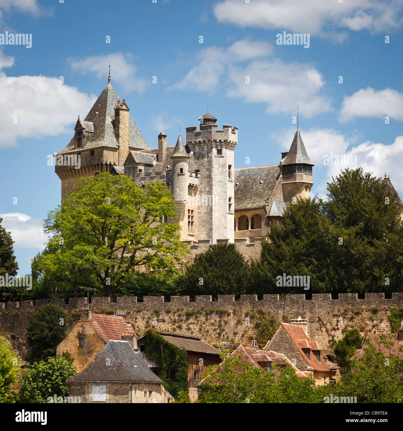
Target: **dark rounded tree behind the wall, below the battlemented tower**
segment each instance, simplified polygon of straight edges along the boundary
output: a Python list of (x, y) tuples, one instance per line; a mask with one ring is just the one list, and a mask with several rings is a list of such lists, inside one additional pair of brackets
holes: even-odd
[(197, 254), (184, 275), (178, 279), (182, 295), (234, 294), (239, 297), (245, 292), (248, 265), (236, 249), (235, 244), (215, 244), (203, 253)]

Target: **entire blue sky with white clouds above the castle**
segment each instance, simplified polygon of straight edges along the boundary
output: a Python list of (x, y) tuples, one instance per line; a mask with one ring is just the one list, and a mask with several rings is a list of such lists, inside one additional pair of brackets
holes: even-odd
[[(325, 197), (326, 181), (345, 167), (324, 166), (331, 153), (386, 172), (403, 191), (400, 0), (9, 3), (0, 0), (0, 33), (32, 34), (31, 48), (0, 45), (0, 214), (20, 275), (43, 248), (42, 220), (60, 203), (47, 156), (87, 115), (109, 60), (111, 83), (151, 147), (160, 131), (175, 144), (179, 122), (182, 131), (198, 125), (208, 105), (219, 127), (239, 128), (235, 167), (247, 167), (247, 157), (250, 166), (275, 164), (291, 145), (298, 105), (316, 165), (312, 194)], [(283, 31), (309, 34), (309, 48), (276, 44)]]

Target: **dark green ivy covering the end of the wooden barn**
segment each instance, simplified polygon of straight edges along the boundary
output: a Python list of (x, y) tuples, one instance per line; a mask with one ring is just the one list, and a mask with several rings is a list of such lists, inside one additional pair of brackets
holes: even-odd
[[(181, 391), (187, 392), (189, 363), (186, 350), (169, 343), (152, 328), (147, 329), (144, 336), (144, 353), (158, 365), (156, 374), (164, 382), (166, 390), (173, 397)], [(173, 378), (169, 377), (170, 372)]]

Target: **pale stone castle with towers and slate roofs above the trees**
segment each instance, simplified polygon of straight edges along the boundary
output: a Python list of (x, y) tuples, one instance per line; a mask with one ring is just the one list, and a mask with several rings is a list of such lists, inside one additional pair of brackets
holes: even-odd
[[(158, 148), (151, 148), (110, 83), (81, 121), (75, 134), (57, 156), (80, 157), (79, 169), (69, 163), (57, 166), (62, 181), (62, 199), (77, 179), (101, 172), (125, 174), (139, 185), (161, 180), (175, 196), (175, 220), (181, 240), (191, 248), (217, 242), (254, 244), (266, 238), (272, 223), (281, 224), (293, 197), (308, 197), (312, 166), (297, 131), (291, 148), (281, 153), (278, 165), (234, 168), (237, 127), (223, 125), (205, 114), (200, 126), (187, 127), (176, 145), (167, 145), (167, 135), (158, 135)], [(248, 253), (247, 253), (248, 254)]]

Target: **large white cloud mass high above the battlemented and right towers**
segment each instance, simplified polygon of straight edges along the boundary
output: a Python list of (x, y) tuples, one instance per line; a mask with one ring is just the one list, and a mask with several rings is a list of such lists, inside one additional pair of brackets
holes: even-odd
[[(247, 102), (267, 104), (267, 112), (312, 117), (331, 111), (331, 100), (319, 92), (325, 85), (322, 74), (308, 63), (286, 63), (268, 60), (272, 45), (249, 38), (237, 41), (227, 49), (207, 47), (200, 50), (189, 72), (169, 90), (198, 91), (212, 94), (227, 89), (228, 97), (243, 97)], [(246, 66), (245, 60), (253, 60)], [(209, 67), (206, 67), (206, 64)], [(246, 77), (250, 83), (246, 83)]]

